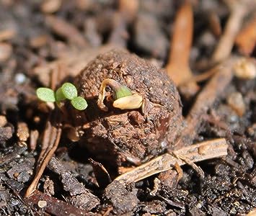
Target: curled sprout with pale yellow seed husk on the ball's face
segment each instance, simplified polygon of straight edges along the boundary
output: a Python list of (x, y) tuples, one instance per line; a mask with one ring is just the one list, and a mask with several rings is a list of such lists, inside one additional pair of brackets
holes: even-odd
[(102, 84), (100, 86), (100, 94), (97, 101), (97, 104), (100, 107), (100, 109), (102, 109), (105, 112), (107, 112), (108, 110), (105, 104), (103, 103), (105, 99), (106, 86), (110, 86), (110, 88), (113, 91), (112, 97), (113, 99), (115, 99), (115, 101), (112, 105), (115, 108), (138, 109), (144, 103), (144, 99), (141, 95), (132, 92), (130, 89), (128, 89), (127, 86), (124, 86), (111, 78), (106, 78), (104, 81), (102, 81)]

